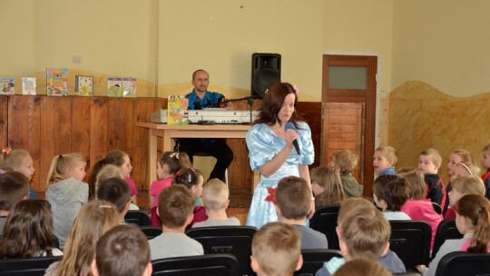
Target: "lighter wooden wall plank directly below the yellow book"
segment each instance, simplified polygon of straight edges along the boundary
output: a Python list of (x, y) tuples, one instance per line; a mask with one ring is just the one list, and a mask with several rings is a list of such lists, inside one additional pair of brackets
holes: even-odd
[(89, 97), (73, 97), (72, 101), (72, 153), (81, 153), (90, 160), (91, 103)]

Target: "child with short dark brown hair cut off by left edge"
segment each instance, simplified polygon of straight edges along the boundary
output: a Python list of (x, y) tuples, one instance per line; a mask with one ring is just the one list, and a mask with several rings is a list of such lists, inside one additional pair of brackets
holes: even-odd
[(4, 232), (6, 218), (15, 203), (27, 199), (29, 180), (22, 173), (0, 174), (0, 236)]

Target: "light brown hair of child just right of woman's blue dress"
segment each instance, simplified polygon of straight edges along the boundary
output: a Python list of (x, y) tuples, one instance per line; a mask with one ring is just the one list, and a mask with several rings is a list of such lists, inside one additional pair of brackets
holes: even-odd
[(342, 181), (336, 168), (332, 165), (322, 165), (311, 170), (311, 182), (316, 182), (325, 190), (327, 196), (334, 196), (338, 202), (344, 200)]

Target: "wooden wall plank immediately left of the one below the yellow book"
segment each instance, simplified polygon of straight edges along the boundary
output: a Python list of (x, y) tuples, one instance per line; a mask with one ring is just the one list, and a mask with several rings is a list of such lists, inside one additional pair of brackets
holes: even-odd
[[(78, 104), (75, 97), (58, 97), (59, 147), (57, 154), (73, 153), (72, 150), (72, 103)], [(56, 129), (53, 129), (56, 133)]]

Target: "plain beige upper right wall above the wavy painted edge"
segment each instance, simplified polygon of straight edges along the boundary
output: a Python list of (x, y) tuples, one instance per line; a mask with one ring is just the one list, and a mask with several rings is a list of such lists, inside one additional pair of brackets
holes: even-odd
[(490, 1), (394, 1), (392, 89), (417, 80), (454, 96), (490, 91)]

